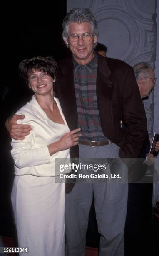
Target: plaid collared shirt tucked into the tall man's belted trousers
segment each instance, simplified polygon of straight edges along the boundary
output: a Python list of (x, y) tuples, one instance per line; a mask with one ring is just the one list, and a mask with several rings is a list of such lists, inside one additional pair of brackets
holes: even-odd
[(86, 65), (74, 60), (74, 84), (80, 141), (106, 141), (101, 128), (96, 95), (97, 54)]

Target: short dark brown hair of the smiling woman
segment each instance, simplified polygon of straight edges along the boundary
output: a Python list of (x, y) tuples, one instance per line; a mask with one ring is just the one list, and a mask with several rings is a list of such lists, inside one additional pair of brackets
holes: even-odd
[(57, 63), (52, 56), (37, 56), (32, 59), (25, 59), (19, 64), (20, 76), (26, 84), (28, 84), (28, 76), (33, 69), (46, 72), (50, 77), (56, 79)]

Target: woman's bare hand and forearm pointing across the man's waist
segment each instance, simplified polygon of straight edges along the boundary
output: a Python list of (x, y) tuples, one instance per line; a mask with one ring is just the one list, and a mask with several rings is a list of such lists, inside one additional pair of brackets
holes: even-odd
[(77, 132), (79, 132), (80, 130), (80, 128), (72, 130), (69, 133), (63, 135), (59, 141), (48, 145), (47, 147), (49, 149), (50, 156), (58, 151), (62, 151), (77, 145), (79, 137), (81, 136), (81, 134), (77, 134)]

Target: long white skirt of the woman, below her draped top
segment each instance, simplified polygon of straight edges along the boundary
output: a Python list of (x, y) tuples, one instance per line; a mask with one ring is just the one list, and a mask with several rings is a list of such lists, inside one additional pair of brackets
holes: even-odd
[(26, 255), (64, 256), (65, 183), (55, 184), (54, 177), (15, 176), (11, 201), (18, 246), (27, 247)]

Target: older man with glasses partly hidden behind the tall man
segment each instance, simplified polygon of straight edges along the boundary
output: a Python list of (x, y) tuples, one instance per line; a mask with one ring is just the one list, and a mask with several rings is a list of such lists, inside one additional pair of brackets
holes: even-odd
[[(157, 78), (154, 70), (146, 62), (134, 65), (134, 73), (142, 98), (148, 97)], [(149, 135), (145, 138), (139, 158), (145, 159), (144, 163), (134, 166), (133, 177), (140, 180), (147, 171), (147, 164), (152, 165), (153, 154), (149, 154)], [(159, 142), (155, 144), (155, 151), (159, 151)], [(131, 175), (129, 175), (131, 177)], [(126, 255), (150, 255), (151, 245), (151, 220), (152, 220), (152, 183), (129, 183), (127, 218), (125, 226), (125, 251)]]

